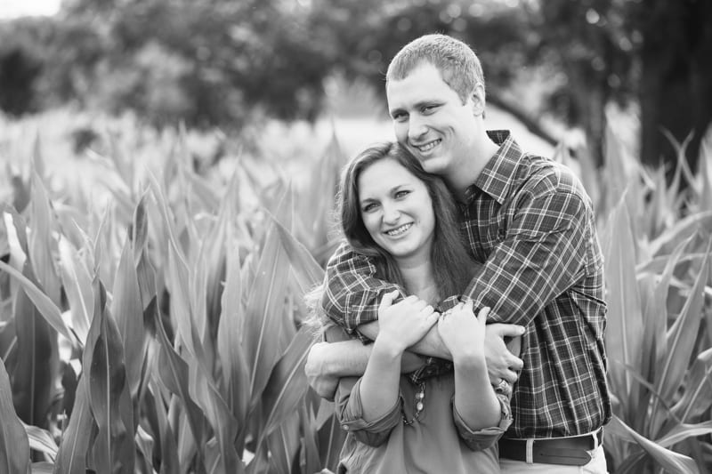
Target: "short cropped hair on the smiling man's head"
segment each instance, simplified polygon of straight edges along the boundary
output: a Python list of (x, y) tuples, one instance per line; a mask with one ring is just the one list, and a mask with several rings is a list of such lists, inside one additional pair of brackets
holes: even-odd
[(388, 81), (400, 81), (423, 61), (440, 71), (442, 80), (465, 103), (476, 84), (484, 89), (482, 66), (473, 49), (462, 41), (447, 35), (425, 35), (401, 48), (388, 65)]

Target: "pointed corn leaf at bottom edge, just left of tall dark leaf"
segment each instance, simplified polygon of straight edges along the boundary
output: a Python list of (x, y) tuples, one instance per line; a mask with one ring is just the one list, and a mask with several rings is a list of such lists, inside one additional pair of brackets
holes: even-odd
[(89, 407), (86, 375), (79, 376), (77, 396), (74, 400), (69, 426), (61, 438), (54, 464), (55, 474), (85, 474), (86, 454), (93, 441), (93, 417)]

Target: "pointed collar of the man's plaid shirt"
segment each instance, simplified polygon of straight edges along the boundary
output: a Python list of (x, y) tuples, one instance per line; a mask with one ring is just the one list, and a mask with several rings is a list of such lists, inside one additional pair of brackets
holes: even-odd
[(499, 145), (499, 149), (473, 184), (465, 189), (465, 205), (472, 204), (474, 198), (482, 192), (489, 194), (500, 205), (503, 204), (512, 188), (514, 170), (522, 157), (522, 149), (508, 130), (488, 130), (487, 134)]

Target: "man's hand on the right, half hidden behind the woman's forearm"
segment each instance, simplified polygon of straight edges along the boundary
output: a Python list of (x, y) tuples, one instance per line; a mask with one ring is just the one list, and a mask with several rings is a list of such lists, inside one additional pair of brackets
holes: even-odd
[(502, 380), (514, 383), (517, 381), (517, 371), (522, 370), (524, 363), (519, 355), (519, 340), (510, 344), (514, 347), (516, 354), (507, 349), (505, 337), (518, 337), (524, 333), (521, 325), (506, 325), (494, 323), (487, 325), (484, 339), (484, 355), (487, 360), (487, 370), (490, 374), (490, 382), (498, 385)]

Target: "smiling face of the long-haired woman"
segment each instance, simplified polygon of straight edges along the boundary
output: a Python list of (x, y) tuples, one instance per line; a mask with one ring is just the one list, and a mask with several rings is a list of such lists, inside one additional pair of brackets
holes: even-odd
[(376, 244), (396, 260), (428, 258), (435, 215), (425, 183), (385, 158), (363, 170), (357, 186), (361, 219)]

